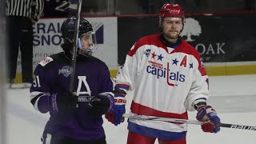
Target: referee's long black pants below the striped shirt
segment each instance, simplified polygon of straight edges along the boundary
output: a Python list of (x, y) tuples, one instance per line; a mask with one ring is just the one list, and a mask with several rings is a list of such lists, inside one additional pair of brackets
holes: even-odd
[(6, 18), (8, 78), (14, 79), (18, 50), (21, 51), (22, 82), (32, 82), (33, 27), (30, 18), (8, 16)]

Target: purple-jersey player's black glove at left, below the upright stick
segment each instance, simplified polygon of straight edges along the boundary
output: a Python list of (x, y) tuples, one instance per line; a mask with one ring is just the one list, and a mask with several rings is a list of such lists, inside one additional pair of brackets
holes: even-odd
[(70, 92), (51, 94), (50, 109), (58, 112), (72, 112), (76, 109), (78, 96)]

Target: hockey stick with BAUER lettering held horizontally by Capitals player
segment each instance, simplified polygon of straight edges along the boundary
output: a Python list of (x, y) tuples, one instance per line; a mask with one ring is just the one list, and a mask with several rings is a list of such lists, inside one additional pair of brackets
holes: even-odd
[[(178, 119), (178, 118), (162, 118), (162, 117), (137, 115), (137, 114), (122, 114), (122, 117), (150, 120), (150, 121), (187, 123), (187, 124), (193, 124), (193, 125), (202, 125), (203, 124), (203, 122), (200, 122), (197, 120)], [(256, 126), (244, 126), (244, 125), (236, 125), (236, 124), (229, 124), (229, 123), (222, 123), (222, 125), (220, 127), (226, 127), (226, 128), (231, 128), (231, 129), (241, 129), (241, 130), (256, 130)]]

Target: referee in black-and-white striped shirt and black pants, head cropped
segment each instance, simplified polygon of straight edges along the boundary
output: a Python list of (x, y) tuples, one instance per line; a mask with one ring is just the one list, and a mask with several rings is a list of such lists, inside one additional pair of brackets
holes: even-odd
[(16, 77), (18, 50), (21, 51), (22, 83), (33, 82), (33, 25), (38, 22), (44, 7), (43, 0), (6, 0), (6, 34), (8, 82)]

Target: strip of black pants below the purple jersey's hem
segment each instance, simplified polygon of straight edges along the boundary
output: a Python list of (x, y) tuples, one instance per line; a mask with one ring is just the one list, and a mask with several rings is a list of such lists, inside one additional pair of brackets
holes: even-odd
[(106, 144), (105, 137), (94, 141), (78, 141), (56, 134), (48, 134), (46, 138), (42, 138), (41, 140), (42, 144)]

